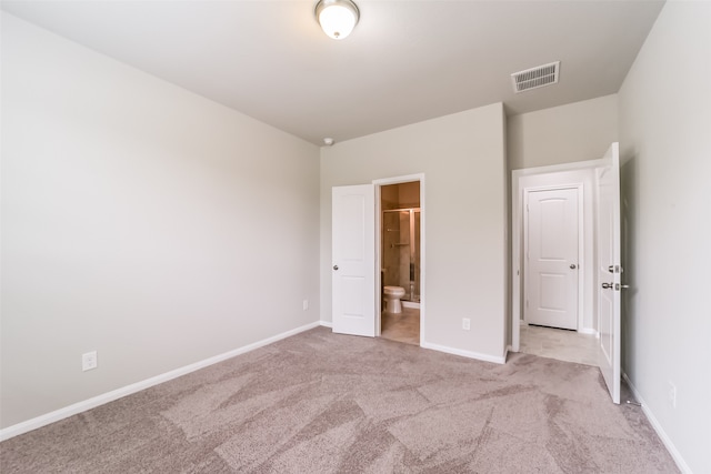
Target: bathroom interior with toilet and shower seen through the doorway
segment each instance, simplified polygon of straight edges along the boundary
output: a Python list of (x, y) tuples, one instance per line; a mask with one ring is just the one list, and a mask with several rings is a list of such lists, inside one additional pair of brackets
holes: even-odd
[(422, 299), (421, 182), (379, 186), (380, 336), (420, 344)]

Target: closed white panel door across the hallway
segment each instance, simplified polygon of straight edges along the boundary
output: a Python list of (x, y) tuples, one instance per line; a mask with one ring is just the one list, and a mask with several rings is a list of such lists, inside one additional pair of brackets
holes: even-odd
[(578, 189), (527, 193), (524, 319), (578, 329)]

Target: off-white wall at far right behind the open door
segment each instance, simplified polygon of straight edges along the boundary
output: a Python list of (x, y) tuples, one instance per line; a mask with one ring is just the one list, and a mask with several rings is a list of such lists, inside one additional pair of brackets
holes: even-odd
[(711, 3), (669, 1), (619, 92), (623, 370), (694, 473), (711, 472), (709, 78)]

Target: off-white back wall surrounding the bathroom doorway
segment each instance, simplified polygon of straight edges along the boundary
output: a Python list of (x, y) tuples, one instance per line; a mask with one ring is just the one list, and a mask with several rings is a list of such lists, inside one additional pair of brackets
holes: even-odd
[[(501, 357), (504, 117), (497, 103), (321, 151), (321, 319), (331, 321), (331, 188), (424, 173), (425, 342)], [(462, 331), (471, 317), (471, 331)]]

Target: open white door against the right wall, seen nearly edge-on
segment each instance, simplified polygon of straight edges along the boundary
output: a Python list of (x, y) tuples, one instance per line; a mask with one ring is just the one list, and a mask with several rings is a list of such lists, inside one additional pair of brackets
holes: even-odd
[(620, 403), (620, 155), (612, 143), (597, 170), (599, 365), (614, 403)]

